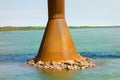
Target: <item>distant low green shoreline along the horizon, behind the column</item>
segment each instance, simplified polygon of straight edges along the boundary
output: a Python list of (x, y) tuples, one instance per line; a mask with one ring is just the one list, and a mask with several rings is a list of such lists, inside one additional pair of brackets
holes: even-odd
[[(69, 29), (82, 29), (82, 28), (120, 28), (120, 26), (69, 26)], [(44, 26), (26, 26), (26, 27), (5, 26), (5, 27), (0, 27), (0, 32), (28, 31), (28, 30), (45, 30), (45, 27)]]

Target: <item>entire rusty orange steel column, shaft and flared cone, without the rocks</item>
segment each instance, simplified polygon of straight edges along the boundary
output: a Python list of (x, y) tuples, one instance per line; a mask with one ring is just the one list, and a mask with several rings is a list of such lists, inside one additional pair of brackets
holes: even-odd
[(35, 62), (82, 59), (65, 21), (65, 1), (48, 0), (48, 24)]

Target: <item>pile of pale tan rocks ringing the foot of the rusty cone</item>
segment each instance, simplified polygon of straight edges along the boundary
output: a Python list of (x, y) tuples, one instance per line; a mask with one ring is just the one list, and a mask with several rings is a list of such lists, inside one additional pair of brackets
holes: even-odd
[(43, 69), (56, 69), (56, 70), (84, 70), (86, 68), (95, 67), (95, 63), (93, 63), (90, 59), (84, 58), (83, 60), (67, 60), (61, 62), (42, 62), (38, 61), (34, 62), (34, 59), (29, 60), (27, 62), (30, 66), (35, 66)]

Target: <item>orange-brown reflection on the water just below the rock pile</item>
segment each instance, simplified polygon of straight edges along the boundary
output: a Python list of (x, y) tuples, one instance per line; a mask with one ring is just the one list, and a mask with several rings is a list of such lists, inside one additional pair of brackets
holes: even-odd
[[(80, 71), (38, 69), (41, 80), (74, 80)], [(81, 71), (82, 72), (82, 71)], [(82, 74), (82, 73), (81, 73)], [(79, 73), (79, 78), (80, 75)], [(81, 77), (81, 79), (83, 79)], [(80, 79), (79, 79), (80, 80)]]

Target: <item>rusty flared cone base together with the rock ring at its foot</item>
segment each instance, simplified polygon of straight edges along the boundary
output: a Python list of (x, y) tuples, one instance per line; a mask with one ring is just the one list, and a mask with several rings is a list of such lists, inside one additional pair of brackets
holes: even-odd
[(43, 69), (78, 70), (95, 67), (95, 64), (77, 53), (65, 19), (48, 21), (39, 52), (28, 61)]

